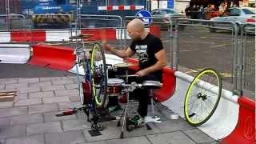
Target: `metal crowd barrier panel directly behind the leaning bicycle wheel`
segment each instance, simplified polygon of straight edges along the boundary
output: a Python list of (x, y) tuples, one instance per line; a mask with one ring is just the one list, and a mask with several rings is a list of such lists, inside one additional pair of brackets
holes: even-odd
[[(180, 26), (184, 30), (178, 30)], [(206, 67), (214, 68), (222, 75), (223, 88), (240, 95), (238, 29), (235, 22), (178, 19), (173, 36), (175, 69), (194, 76)]]

